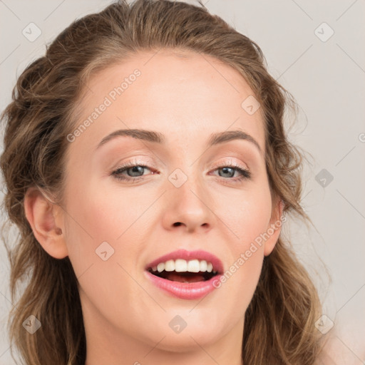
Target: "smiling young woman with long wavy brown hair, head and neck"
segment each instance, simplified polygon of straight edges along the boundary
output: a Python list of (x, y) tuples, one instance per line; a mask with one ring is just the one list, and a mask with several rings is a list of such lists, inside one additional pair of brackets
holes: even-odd
[(201, 3), (68, 26), (2, 116), (26, 364), (314, 364), (319, 298), (282, 234), (309, 220), (287, 106), (259, 46)]

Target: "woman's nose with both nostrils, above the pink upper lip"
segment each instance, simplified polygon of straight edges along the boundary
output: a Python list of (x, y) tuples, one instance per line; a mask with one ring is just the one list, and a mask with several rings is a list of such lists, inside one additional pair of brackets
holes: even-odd
[(170, 187), (165, 196), (163, 226), (166, 230), (208, 232), (215, 224), (212, 199), (207, 191), (188, 179), (180, 187)]

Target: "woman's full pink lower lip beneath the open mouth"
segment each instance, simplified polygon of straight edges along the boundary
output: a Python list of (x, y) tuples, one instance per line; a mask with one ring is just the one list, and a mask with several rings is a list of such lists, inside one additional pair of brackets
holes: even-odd
[[(148, 271), (145, 271), (147, 277), (155, 284), (156, 287), (165, 290), (173, 297), (178, 297), (180, 299), (200, 299), (205, 297), (205, 295), (217, 289), (213, 286), (219, 275), (215, 275), (209, 280), (204, 282), (173, 282), (172, 280), (163, 279), (162, 277), (157, 277)], [(219, 279), (218, 279), (219, 280)]]

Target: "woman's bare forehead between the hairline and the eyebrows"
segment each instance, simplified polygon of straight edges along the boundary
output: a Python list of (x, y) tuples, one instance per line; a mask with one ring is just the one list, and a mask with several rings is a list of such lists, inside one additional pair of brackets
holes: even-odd
[[(137, 76), (138, 75), (138, 76)], [(185, 50), (143, 51), (98, 72), (88, 82), (76, 126), (106, 103), (78, 138), (90, 145), (117, 129), (143, 128), (198, 138), (240, 129), (264, 150), (262, 110), (250, 115), (242, 102), (253, 96), (245, 78), (212, 56)], [(86, 137), (87, 135), (87, 137)]]

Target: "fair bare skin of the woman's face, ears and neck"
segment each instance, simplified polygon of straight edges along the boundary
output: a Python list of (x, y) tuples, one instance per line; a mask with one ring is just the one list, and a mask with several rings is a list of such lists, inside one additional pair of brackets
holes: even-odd
[[(250, 115), (241, 107), (253, 92), (230, 66), (163, 49), (93, 76), (76, 128), (135, 68), (141, 72), (136, 81), (70, 143), (62, 208), (29, 190), (26, 217), (49, 255), (71, 259), (87, 365), (242, 364), (245, 311), (280, 227), (204, 299), (172, 297), (145, 277), (144, 268), (184, 248), (211, 252), (227, 270), (277, 222), (282, 203), (272, 202), (264, 155), (255, 145), (231, 140), (205, 147), (211, 133), (242, 130), (264, 151), (262, 110)], [(109, 133), (128, 128), (158, 131), (166, 143), (119, 136), (96, 149)], [(137, 183), (111, 175), (129, 161), (148, 166)], [(252, 178), (235, 183), (239, 171), (222, 171), (231, 162), (248, 168)], [(168, 180), (177, 168), (187, 176), (180, 187)], [(104, 241), (114, 249), (106, 261), (95, 252)], [(179, 334), (168, 325), (176, 315), (187, 323)]]

